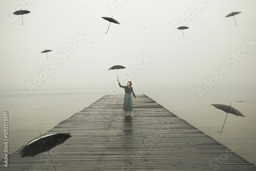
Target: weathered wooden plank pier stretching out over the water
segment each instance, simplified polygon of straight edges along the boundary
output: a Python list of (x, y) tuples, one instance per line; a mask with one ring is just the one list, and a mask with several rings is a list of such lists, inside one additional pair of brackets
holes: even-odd
[[(146, 95), (125, 118), (123, 97), (103, 96), (46, 133), (72, 135), (50, 150), (56, 170), (256, 170)], [(54, 170), (47, 152), (20, 158), (21, 149), (6, 170)]]

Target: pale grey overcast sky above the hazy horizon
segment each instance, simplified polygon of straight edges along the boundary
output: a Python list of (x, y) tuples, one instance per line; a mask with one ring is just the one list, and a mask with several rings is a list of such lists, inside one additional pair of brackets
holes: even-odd
[[(256, 86), (256, 1), (0, 1), (0, 89)], [(19, 9), (31, 13), (13, 15)], [(240, 11), (225, 17), (231, 11)], [(120, 25), (101, 18), (108, 16)], [(179, 26), (189, 29), (178, 30)], [(52, 52), (40, 53), (45, 49)]]

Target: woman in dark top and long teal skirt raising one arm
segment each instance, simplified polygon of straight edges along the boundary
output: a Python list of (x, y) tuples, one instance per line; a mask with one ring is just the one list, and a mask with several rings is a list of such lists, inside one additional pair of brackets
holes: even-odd
[(125, 118), (127, 118), (127, 112), (128, 111), (129, 111), (130, 117), (132, 117), (132, 115), (131, 115), (131, 111), (133, 110), (132, 93), (133, 93), (133, 96), (134, 96), (135, 101), (136, 101), (136, 96), (133, 92), (133, 88), (131, 87), (132, 82), (128, 81), (127, 86), (121, 86), (119, 79), (117, 79), (117, 81), (118, 81), (119, 86), (121, 88), (124, 88), (124, 92), (125, 92), (124, 100), (123, 100), (123, 111), (125, 111)]

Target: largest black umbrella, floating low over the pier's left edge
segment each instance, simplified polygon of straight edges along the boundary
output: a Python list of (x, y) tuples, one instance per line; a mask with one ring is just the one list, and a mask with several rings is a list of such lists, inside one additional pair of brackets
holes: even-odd
[[(40, 133), (41, 134), (41, 133)], [(29, 142), (22, 151), (19, 152), (21, 158), (23, 157), (34, 157), (42, 152), (48, 152), (53, 147), (64, 143), (68, 138), (72, 137), (70, 133), (59, 133), (59, 134), (49, 134), (46, 136), (40, 136), (39, 138)], [(49, 154), (50, 156), (50, 154)], [(52, 158), (50, 156), (52, 161)], [(53, 164), (53, 161), (52, 161)], [(56, 170), (54, 164), (54, 169)]]

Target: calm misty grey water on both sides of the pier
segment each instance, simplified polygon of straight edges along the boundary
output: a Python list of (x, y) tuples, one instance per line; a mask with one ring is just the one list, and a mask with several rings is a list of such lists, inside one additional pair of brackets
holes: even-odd
[[(134, 86), (133, 86), (134, 87)], [(169, 88), (139, 89), (136, 94), (145, 94), (170, 112), (186, 120), (199, 130), (256, 164), (256, 88), (212, 89), (200, 98), (196, 89)], [(123, 90), (115, 92), (122, 94)], [(0, 91), (1, 131), (3, 140), (4, 112), (9, 113), (9, 150), (11, 154), (30, 140), (44, 134), (92, 104), (108, 90), (27, 90)], [(227, 104), (245, 115), (245, 118), (228, 114), (223, 133), (219, 134), (226, 113), (210, 104)], [(135, 102), (136, 105), (136, 102)], [(4, 145), (0, 144), (0, 156)]]

